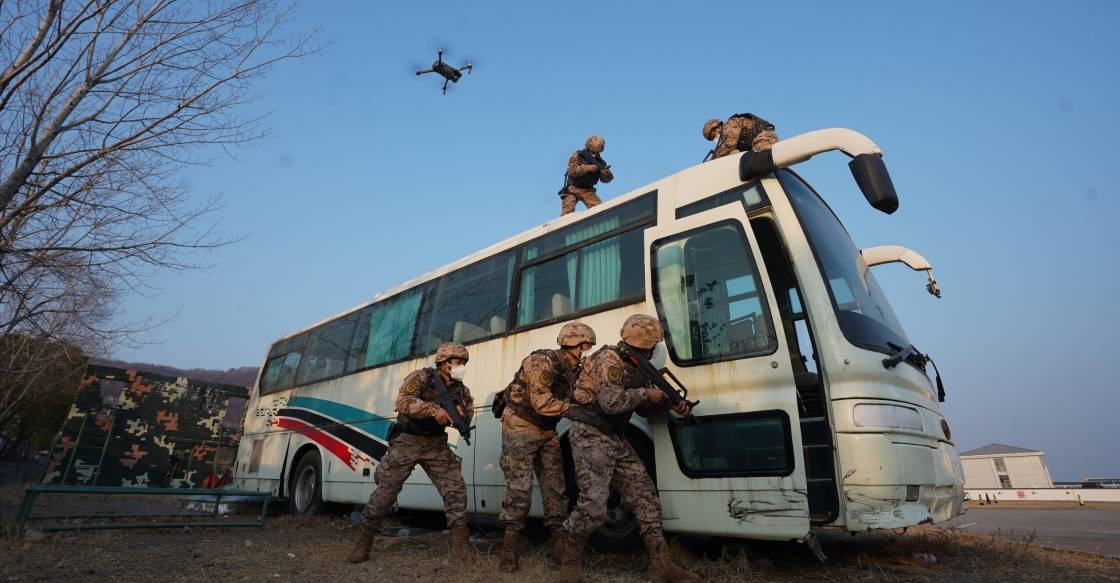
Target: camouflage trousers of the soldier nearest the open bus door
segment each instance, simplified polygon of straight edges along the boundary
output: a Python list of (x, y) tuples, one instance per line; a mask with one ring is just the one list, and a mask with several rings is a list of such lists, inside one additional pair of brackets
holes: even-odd
[(564, 520), (564, 528), (579, 538), (590, 536), (607, 518), (607, 498), (614, 487), (634, 511), (642, 538), (663, 537), (657, 490), (626, 438), (572, 422), (568, 439), (576, 462), (579, 501)]

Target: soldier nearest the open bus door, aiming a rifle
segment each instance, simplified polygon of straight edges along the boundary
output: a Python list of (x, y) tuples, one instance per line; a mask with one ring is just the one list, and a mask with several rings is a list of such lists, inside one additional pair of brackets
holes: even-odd
[[(697, 581), (700, 577), (669, 560), (669, 548), (661, 525), (661, 501), (645, 466), (626, 440), (631, 414), (664, 414), (669, 399), (650, 386), (633, 361), (629, 350), (647, 357), (662, 340), (656, 318), (636, 313), (626, 319), (618, 346), (605, 346), (584, 365), (572, 394), (568, 419), (572, 421), (568, 439), (576, 464), (579, 501), (564, 521), (569, 539), (560, 581), (580, 580), (584, 544), (607, 516), (610, 486), (620, 491), (638, 520), (642, 542), (650, 553), (647, 576), (653, 582)], [(690, 413), (687, 402), (673, 411)]]

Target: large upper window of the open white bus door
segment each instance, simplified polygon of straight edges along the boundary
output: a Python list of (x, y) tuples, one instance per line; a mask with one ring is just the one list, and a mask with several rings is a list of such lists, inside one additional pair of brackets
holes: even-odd
[(678, 363), (771, 354), (777, 347), (758, 272), (738, 223), (654, 246), (657, 310)]

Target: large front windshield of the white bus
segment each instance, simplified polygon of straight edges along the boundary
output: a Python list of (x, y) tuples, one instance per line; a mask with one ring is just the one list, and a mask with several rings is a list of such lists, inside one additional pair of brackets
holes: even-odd
[(832, 305), (848, 341), (888, 354), (909, 346), (887, 297), (832, 209), (797, 175), (780, 170), (777, 178), (829, 282)]

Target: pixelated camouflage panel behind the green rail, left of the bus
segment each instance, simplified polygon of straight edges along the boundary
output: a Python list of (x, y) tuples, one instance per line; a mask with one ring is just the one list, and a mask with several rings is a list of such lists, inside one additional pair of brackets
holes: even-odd
[(216, 487), (236, 455), (248, 396), (241, 386), (91, 365), (43, 482)]

